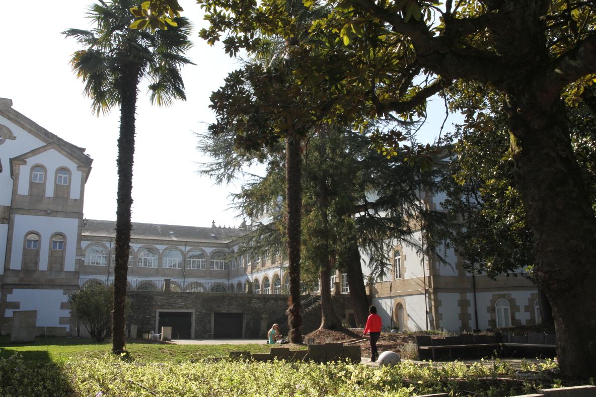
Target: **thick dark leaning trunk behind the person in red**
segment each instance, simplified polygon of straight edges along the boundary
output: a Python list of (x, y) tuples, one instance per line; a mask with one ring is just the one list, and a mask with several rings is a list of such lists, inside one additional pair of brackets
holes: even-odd
[(347, 284), (350, 287), (350, 303), (354, 311), (354, 319), (358, 327), (364, 327), (368, 318), (368, 296), (362, 276), (362, 265), (360, 262), (360, 252), (358, 243), (354, 241), (350, 247), (350, 252), (346, 255), (346, 274)]

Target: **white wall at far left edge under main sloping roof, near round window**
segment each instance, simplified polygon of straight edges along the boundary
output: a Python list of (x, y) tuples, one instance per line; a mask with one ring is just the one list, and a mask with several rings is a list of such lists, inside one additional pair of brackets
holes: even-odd
[[(3, 160), (2, 166), (4, 166), (4, 171), (0, 172), (0, 206), (10, 206), (13, 196), (13, 179), (10, 177), (10, 163), (8, 163), (8, 159), (41, 147), (44, 145), (44, 142), (33, 137), (29, 132), (24, 131), (24, 129), (8, 121), (3, 116), (0, 116), (0, 124), (7, 126), (16, 138), (7, 139), (4, 144), (0, 145), (0, 153), (2, 153)], [(29, 178), (28, 175), (27, 178)], [(27, 182), (29, 182), (28, 179)], [(29, 184), (27, 183), (27, 185)]]

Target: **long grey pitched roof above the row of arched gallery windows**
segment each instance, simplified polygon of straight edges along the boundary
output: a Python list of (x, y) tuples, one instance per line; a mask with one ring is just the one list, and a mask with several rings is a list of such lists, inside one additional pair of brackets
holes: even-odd
[[(82, 229), (83, 236), (114, 237), (116, 221), (89, 219)], [(202, 243), (229, 243), (246, 234), (246, 229), (226, 227), (194, 227), (180, 225), (141, 224), (132, 222), (131, 238), (166, 241), (197, 241)]]

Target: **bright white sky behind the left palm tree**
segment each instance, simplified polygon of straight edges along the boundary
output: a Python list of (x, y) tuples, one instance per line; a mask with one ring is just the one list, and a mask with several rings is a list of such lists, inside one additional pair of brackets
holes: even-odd
[[(209, 46), (198, 38), (197, 31), (205, 22), (195, 0), (179, 3), (183, 15), (195, 25), (194, 47), (188, 57), (196, 65), (182, 70), (187, 101), (166, 108), (151, 106), (146, 85), (139, 86), (132, 221), (198, 227), (209, 227), (215, 221), (237, 227), (242, 219), (228, 209), (229, 194), (239, 191), (242, 181), (218, 186), (198, 175), (198, 163), (209, 162), (209, 158), (197, 150), (196, 134), (206, 133), (215, 120), (209, 97), (238, 64), (221, 46)], [(7, 17), (0, 24), (0, 97), (13, 100), (15, 110), (53, 134), (86, 148), (94, 161), (85, 186), (84, 217), (115, 220), (119, 108), (99, 117), (92, 113), (91, 100), (83, 95), (83, 83), (69, 64), (79, 45), (61, 34), (70, 28), (91, 29), (85, 15), (90, 4), (86, 0), (32, 0), (27, 2), (27, 13), (21, 2), (2, 4), (2, 14), (23, 18)], [(432, 142), (444, 117), (442, 101), (434, 100), (429, 122), (418, 139)]]

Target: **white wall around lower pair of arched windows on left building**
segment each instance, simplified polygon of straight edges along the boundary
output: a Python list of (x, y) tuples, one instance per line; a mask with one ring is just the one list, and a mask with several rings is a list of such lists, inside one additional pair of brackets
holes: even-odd
[(79, 219), (76, 218), (15, 215), (10, 268), (14, 270), (21, 269), (25, 235), (29, 231), (36, 231), (41, 235), (41, 240), (39, 241), (39, 270), (47, 270), (49, 245), (51, 244), (49, 239), (52, 234), (60, 232), (66, 237), (64, 271), (75, 271), (78, 227)]

